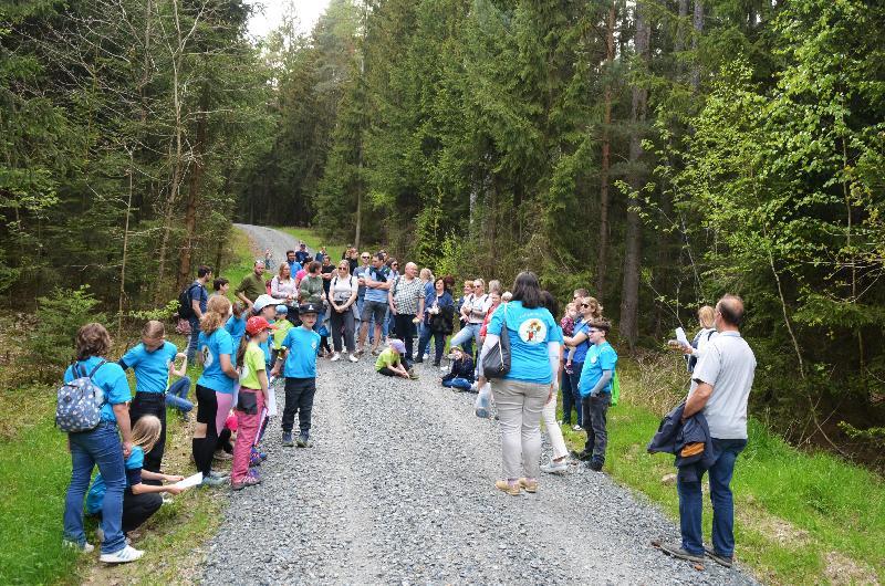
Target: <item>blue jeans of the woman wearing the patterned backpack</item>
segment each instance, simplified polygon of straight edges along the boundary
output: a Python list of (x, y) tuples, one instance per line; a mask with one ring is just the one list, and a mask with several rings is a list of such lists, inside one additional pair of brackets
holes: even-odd
[(71, 483), (64, 499), (64, 538), (83, 545), (83, 499), (90, 488), (92, 469), (98, 464), (107, 486), (102, 502), (102, 553), (113, 554), (126, 546), (123, 535), (123, 491), (126, 490), (126, 470), (123, 464), (123, 444), (116, 423), (102, 421), (93, 430), (69, 433), (71, 443)]

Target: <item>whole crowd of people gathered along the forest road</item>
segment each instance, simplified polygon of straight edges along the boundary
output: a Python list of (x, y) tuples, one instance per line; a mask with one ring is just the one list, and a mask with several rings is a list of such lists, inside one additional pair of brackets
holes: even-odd
[[(101, 561), (125, 563), (143, 555), (129, 545), (129, 537), (160, 507), (163, 493), (181, 490), (176, 484), (181, 475), (162, 472), (166, 408), (189, 417), (194, 404), (186, 368), (195, 359), (202, 370), (196, 381), (191, 452), (204, 486), (229, 484), (242, 490), (261, 482), (259, 468), (267, 458), (261, 441), (277, 416), (278, 390), (284, 394), (282, 446), (312, 447), (317, 358), (357, 363), (366, 354), (381, 376), (416, 379), (416, 365), (427, 362), (437, 373), (448, 370), (439, 377), (444, 387), (491, 398), (503, 460), (503, 475), (496, 486), (507, 494), (537, 492), (542, 472), (562, 474), (581, 461), (594, 471), (605, 465), (607, 411), (618, 394), (618, 356), (607, 341), (612, 325), (589, 291), (574, 291), (561, 315), (554, 295), (531, 272), (520, 273), (510, 291), (496, 280), (488, 285), (482, 279), (464, 281), (456, 299), (452, 276), (435, 276), (414, 262), (405, 263), (400, 272), (386, 251), (358, 253), (353, 247), (333, 264), (325, 249), (311, 255), (301, 244), (285, 252), (268, 279), (272, 269), (268, 250), (232, 291), (231, 303), (229, 281), (214, 279), (211, 268), (200, 266), (179, 296), (178, 331), (188, 335), (185, 353), (166, 339), (165, 325), (157, 321), (144, 326), (140, 343), (117, 362), (108, 358), (111, 338), (101, 324), (80, 329), (76, 360), (64, 380), (88, 378), (103, 391), (103, 402), (97, 427), (69, 433), (73, 471), (64, 513), (67, 545), (85, 552), (94, 548), (84, 533), (85, 498), (86, 512), (101, 520)], [(674, 345), (686, 354), (694, 380), (675, 425), (706, 415), (710, 436), (709, 465), (695, 477), (679, 477), (683, 543), (663, 546), (687, 559), (705, 554), (700, 477), (706, 470), (715, 511), (709, 555), (730, 563), (733, 552), (728, 486), (735, 459), (746, 446), (746, 402), (754, 368), (752, 352), (737, 334), (742, 312), (733, 296), (723, 297), (716, 308), (702, 307), (704, 329), (690, 344)], [(509, 344), (502, 344), (504, 337)], [(491, 379), (483, 363), (502, 346), (509, 348), (509, 370)], [(448, 368), (441, 366), (444, 357)], [(135, 375), (134, 396), (127, 369)], [(552, 446), (544, 463), (542, 420)], [(586, 435), (580, 452), (568, 450), (562, 433), (573, 422), (572, 429)], [(231, 460), (230, 474), (212, 468), (219, 460)], [(90, 485), (95, 465), (100, 474)]]

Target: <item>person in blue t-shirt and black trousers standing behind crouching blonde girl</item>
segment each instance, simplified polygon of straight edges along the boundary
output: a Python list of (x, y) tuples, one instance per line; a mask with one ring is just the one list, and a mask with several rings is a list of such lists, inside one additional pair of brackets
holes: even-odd
[(177, 355), (178, 348), (166, 339), (166, 326), (150, 320), (142, 328), (142, 343), (118, 362), (124, 370), (132, 368), (135, 373), (135, 398), (129, 405), (132, 425), (146, 415), (156, 416), (160, 421), (159, 438), (144, 457), (144, 468), (152, 472), (160, 471), (166, 449), (166, 387)]

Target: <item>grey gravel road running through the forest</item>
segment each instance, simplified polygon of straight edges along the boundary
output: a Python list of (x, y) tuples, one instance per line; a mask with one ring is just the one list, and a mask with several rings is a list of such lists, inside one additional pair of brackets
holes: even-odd
[(572, 467), (537, 494), (497, 491), (500, 432), (475, 417), (475, 395), (442, 388), (426, 363), (419, 380), (373, 363), (320, 360), (313, 448), (283, 448), (270, 422), (263, 482), (230, 494), (206, 584), (754, 583), (652, 547), (678, 529), (604, 473)]

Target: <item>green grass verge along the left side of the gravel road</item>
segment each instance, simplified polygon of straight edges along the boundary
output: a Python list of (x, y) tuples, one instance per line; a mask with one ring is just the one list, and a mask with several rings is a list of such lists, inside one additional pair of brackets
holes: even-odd
[[(251, 270), (248, 238), (233, 230), (231, 264), (223, 276), (239, 283)], [(20, 346), (14, 315), (0, 318), (0, 336), (7, 348)], [(184, 336), (167, 328), (169, 339), (179, 348), (186, 347)], [(138, 339), (137, 328), (115, 341), (121, 354), (126, 343)], [(0, 367), (0, 380), (28, 379), (27, 359), (11, 356)], [(189, 365), (194, 384), (200, 374), (198, 365)], [(60, 377), (61, 378), (61, 377)], [(164, 505), (143, 527), (143, 538), (136, 543), (145, 557), (135, 564), (104, 567), (97, 563), (97, 552), (77, 555), (62, 547), (62, 513), (64, 496), (71, 479), (71, 457), (65, 436), (53, 425), (55, 396), (53, 385), (29, 385), (0, 390), (0, 584), (183, 584), (197, 583), (202, 561), (200, 544), (215, 534), (220, 523), (221, 505), (212, 491), (190, 490)], [(133, 385), (134, 387), (134, 385)], [(191, 399), (194, 394), (190, 395)], [(190, 474), (191, 428), (176, 416), (167, 417), (167, 444), (164, 469)], [(192, 420), (192, 417), (191, 417)], [(192, 423), (191, 423), (192, 425)], [(86, 535), (95, 544), (95, 522), (86, 520)], [(97, 544), (96, 544), (97, 545)]]

